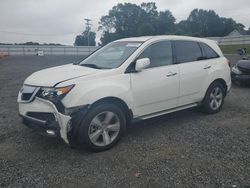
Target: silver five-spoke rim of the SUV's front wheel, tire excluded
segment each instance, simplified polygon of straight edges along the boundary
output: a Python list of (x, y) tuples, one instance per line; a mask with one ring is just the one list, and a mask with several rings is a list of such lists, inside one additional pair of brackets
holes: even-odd
[(106, 111), (96, 115), (90, 123), (88, 135), (96, 146), (111, 144), (120, 132), (120, 120), (114, 112)]

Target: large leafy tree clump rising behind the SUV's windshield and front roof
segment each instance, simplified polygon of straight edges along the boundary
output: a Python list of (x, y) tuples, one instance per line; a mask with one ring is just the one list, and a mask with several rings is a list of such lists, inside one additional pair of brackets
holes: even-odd
[(114, 6), (99, 22), (102, 45), (119, 38), (159, 35), (174, 31), (175, 18), (170, 11), (158, 12), (153, 2)]

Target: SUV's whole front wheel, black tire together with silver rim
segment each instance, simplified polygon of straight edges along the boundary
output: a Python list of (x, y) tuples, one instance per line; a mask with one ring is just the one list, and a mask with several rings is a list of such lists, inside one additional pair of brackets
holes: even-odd
[(126, 130), (124, 112), (116, 105), (101, 103), (94, 106), (80, 122), (77, 140), (91, 151), (112, 148)]

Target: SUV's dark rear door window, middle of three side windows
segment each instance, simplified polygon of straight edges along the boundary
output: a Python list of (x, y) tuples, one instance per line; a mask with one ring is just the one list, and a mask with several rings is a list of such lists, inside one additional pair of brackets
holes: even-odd
[(176, 63), (186, 63), (202, 59), (199, 44), (193, 41), (174, 41)]

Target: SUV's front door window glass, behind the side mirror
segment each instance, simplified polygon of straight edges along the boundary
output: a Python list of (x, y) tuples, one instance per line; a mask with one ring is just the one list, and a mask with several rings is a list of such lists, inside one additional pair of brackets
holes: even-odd
[(160, 67), (173, 64), (172, 46), (170, 41), (162, 41), (147, 47), (138, 59), (149, 58), (150, 67)]

